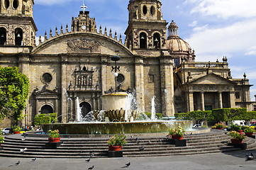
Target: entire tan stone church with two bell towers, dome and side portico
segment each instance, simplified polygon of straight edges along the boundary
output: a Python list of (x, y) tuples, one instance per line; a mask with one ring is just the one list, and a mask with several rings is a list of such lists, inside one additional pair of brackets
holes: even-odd
[[(121, 35), (96, 28), (89, 11), (79, 11), (70, 26), (55, 28), (39, 36), (33, 20), (33, 0), (0, 1), (0, 64), (18, 67), (30, 80), (26, 119), (33, 124), (40, 113), (57, 113), (58, 120), (76, 120), (101, 110), (101, 96), (114, 89), (113, 55), (118, 65), (120, 91), (135, 94), (137, 109), (151, 111), (155, 96), (157, 113), (204, 111), (246, 107), (250, 101), (249, 80), (233, 79), (226, 57), (223, 61), (195, 62), (195, 52), (179, 38), (178, 26), (162, 18), (160, 0), (130, 0), (128, 27)], [(8, 122), (8, 121), (6, 121)]]

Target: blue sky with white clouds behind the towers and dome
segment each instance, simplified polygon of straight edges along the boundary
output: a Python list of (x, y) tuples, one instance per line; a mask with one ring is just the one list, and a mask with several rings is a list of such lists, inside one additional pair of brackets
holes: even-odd
[[(162, 13), (167, 22), (179, 26), (179, 36), (196, 52), (196, 62), (215, 62), (228, 57), (232, 77), (247, 74), (251, 99), (256, 94), (256, 1), (255, 0), (162, 0)], [(53, 34), (57, 26), (71, 26), (78, 16), (82, 0), (35, 0), (34, 19), (37, 36)], [(123, 35), (128, 26), (128, 0), (84, 0), (96, 25)]]

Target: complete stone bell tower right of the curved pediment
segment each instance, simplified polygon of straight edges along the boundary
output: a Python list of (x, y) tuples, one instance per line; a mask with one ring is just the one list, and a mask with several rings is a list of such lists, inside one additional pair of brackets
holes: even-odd
[(167, 22), (160, 0), (130, 0), (126, 45), (132, 50), (160, 50), (165, 46)]

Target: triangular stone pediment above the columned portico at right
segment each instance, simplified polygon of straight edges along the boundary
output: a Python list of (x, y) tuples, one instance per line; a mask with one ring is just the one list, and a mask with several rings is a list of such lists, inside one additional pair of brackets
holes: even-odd
[(216, 85), (228, 85), (228, 84), (236, 84), (234, 81), (230, 81), (229, 79), (225, 79), (217, 74), (207, 74), (204, 77), (199, 77), (199, 79), (195, 79), (189, 84), (216, 84)]

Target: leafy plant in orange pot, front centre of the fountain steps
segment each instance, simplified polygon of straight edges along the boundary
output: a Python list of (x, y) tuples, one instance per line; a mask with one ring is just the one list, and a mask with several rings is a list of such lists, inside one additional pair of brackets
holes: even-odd
[(119, 151), (126, 144), (126, 135), (120, 134), (111, 137), (108, 141), (108, 150)]

